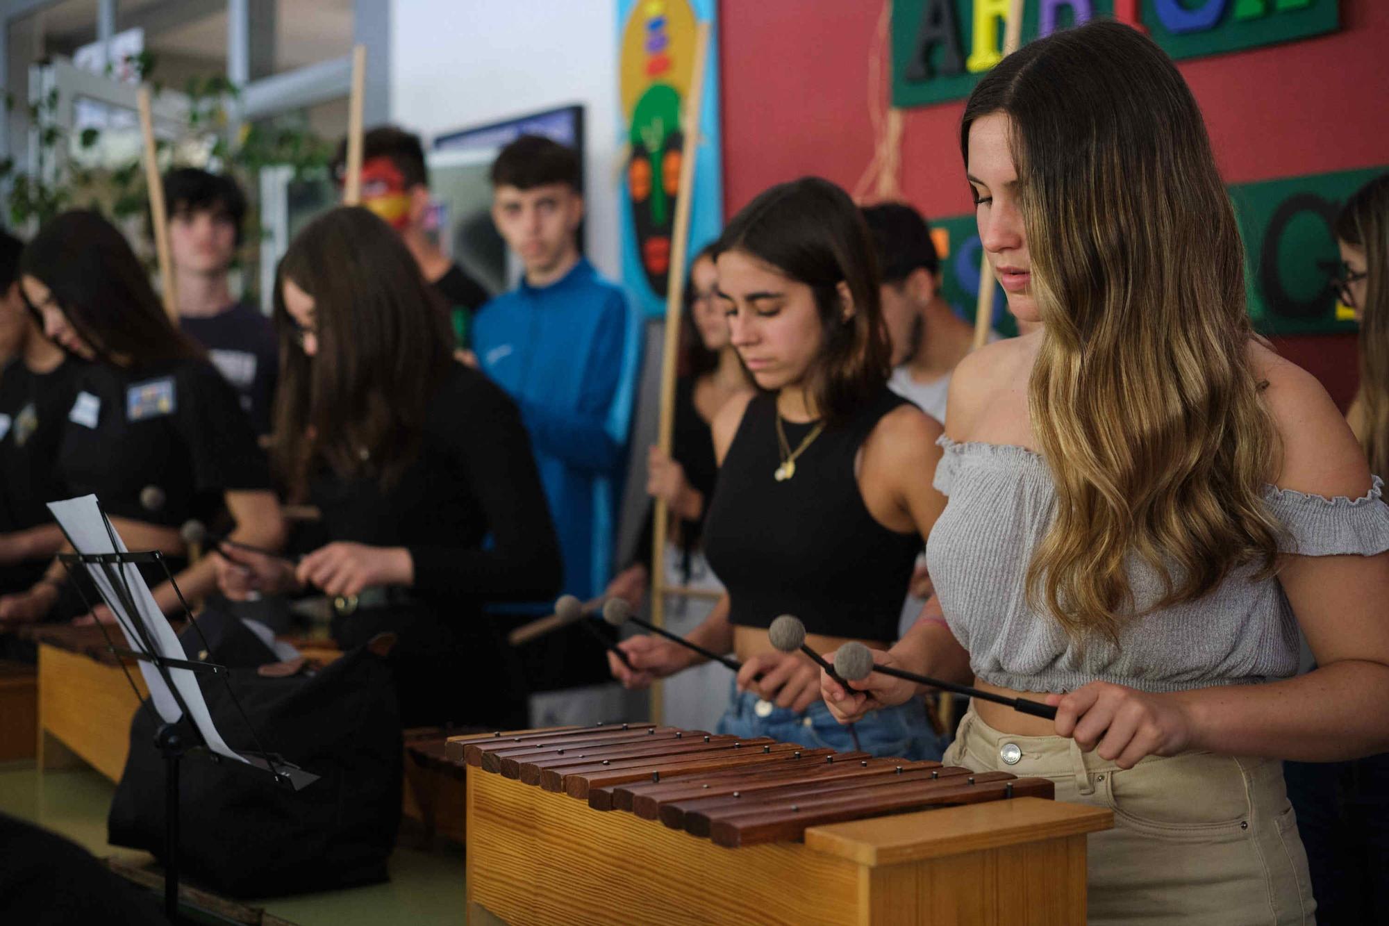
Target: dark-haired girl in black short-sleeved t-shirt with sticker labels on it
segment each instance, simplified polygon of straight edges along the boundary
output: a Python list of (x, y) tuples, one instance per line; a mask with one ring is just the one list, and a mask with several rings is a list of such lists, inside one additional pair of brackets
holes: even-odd
[[(131, 549), (165, 555), (190, 602), (217, 577), (210, 559), (183, 567), (188, 521), (207, 524), (225, 507), (235, 539), (278, 548), (283, 520), (250, 421), (203, 349), (172, 325), (121, 232), (96, 213), (58, 216), (25, 249), (19, 285), (44, 334), (90, 362), (58, 439), (63, 495), (96, 495)], [(158, 606), (178, 613), (163, 569), (146, 578)], [(0, 622), (81, 615), (68, 588), (53, 563), (26, 592), (0, 598)], [(94, 616), (110, 617), (104, 606)]]

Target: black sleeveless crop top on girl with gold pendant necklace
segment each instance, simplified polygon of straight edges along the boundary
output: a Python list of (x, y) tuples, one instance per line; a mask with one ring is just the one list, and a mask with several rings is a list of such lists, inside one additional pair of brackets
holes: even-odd
[[(921, 537), (874, 520), (854, 457), (900, 405), (907, 400), (885, 387), (847, 424), (815, 438), (783, 482), (774, 478), (781, 466), (776, 399), (758, 395), (747, 405), (704, 521), (704, 553), (728, 588), (731, 623), (768, 627), (779, 615), (795, 615), (813, 634), (897, 638)], [(782, 427), (795, 449), (814, 425)]]

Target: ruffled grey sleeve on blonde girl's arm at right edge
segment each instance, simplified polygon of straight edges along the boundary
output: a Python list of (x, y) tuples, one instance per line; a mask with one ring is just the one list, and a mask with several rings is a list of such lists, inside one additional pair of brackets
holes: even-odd
[(1382, 491), (1383, 480), (1376, 476), (1357, 499), (1328, 499), (1270, 485), (1264, 501), (1288, 531), (1285, 553), (1374, 556), (1389, 549), (1389, 506), (1381, 501)]

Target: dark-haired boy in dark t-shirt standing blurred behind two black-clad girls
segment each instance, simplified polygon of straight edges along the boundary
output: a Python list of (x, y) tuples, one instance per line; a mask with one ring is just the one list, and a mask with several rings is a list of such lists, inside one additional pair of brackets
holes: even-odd
[(231, 177), (183, 167), (164, 175), (164, 202), (179, 327), (207, 348), (256, 432), (268, 434), (279, 373), (275, 330), (260, 309), (235, 302), (226, 284), (242, 243), (246, 196)]

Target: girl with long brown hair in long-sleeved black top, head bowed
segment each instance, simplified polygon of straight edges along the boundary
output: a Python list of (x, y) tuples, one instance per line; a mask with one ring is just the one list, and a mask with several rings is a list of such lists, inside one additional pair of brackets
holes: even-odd
[(482, 605), (554, 595), (558, 544), (515, 403), (453, 359), (426, 286), (367, 209), (333, 209), (294, 238), (275, 284), (271, 453), (329, 542), (297, 563), (229, 544), (214, 559), (232, 599), (333, 598), (344, 648), (396, 633), (403, 724), (524, 726)]

